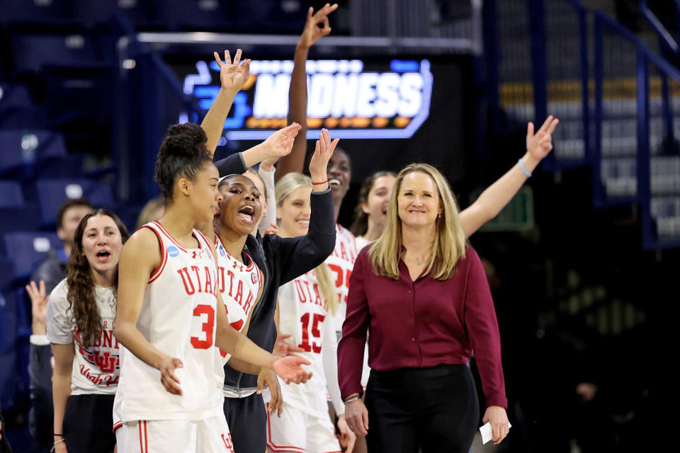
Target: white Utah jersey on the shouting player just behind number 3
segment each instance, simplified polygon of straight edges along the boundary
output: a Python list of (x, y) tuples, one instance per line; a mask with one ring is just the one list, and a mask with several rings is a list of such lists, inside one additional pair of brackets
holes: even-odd
[[(217, 287), (222, 294), (222, 302), (227, 308), (229, 324), (240, 332), (246, 326), (248, 315), (260, 295), (262, 273), (247, 253), (249, 265), (244, 265), (229, 255), (217, 235), (215, 235), (215, 249), (217, 251)], [(220, 355), (222, 365), (225, 365), (231, 355), (222, 350), (220, 350)]]

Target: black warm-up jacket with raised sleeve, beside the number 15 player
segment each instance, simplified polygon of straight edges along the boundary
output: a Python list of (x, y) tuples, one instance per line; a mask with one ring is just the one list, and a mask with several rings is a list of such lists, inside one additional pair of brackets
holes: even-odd
[[(241, 154), (232, 154), (215, 162), (220, 176), (244, 173), (246, 166)], [(253, 258), (263, 273), (262, 297), (251, 314), (247, 336), (256, 345), (271, 352), (276, 343), (274, 309), (278, 287), (316, 268), (335, 248), (335, 212), (333, 194), (312, 192), (312, 217), (306, 236), (282, 238), (276, 234), (262, 237), (249, 235), (244, 251)], [(257, 376), (225, 365), (225, 388), (237, 393), (257, 387)]]

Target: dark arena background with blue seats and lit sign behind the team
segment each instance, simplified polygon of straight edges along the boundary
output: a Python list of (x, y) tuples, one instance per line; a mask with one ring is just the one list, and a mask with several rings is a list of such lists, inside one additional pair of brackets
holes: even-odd
[[(132, 231), (159, 195), (166, 128), (200, 123), (217, 94), (213, 51), (253, 60), (216, 159), (284, 127), (295, 44), (307, 8), (324, 3), (0, 0), (0, 408), (15, 452), (32, 445), (24, 286), (60, 246), (57, 207), (87, 197)], [(307, 62), (307, 137), (327, 127), (351, 157), (339, 223), (367, 176), (414, 161), (438, 167), (467, 207), (523, 156), (527, 122), (560, 119), (553, 151), (470, 238), (512, 423), (501, 445), (477, 438), (472, 451), (669, 445), (659, 403), (680, 300), (680, 3), (338, 4)]]

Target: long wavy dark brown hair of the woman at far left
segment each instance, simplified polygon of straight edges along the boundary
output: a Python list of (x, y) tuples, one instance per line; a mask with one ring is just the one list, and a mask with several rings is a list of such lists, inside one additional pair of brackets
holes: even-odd
[[(92, 280), (90, 263), (83, 253), (83, 234), (87, 221), (96, 215), (106, 215), (113, 219), (118, 226), (120, 237), (123, 243), (128, 240), (130, 234), (125, 224), (120, 221), (117, 215), (106, 209), (91, 210), (78, 224), (78, 229), (74, 236), (73, 249), (69, 261), (66, 265), (67, 280), (69, 289), (67, 300), (71, 304), (73, 316), (76, 319), (77, 331), (81, 335), (81, 341), (85, 347), (89, 346), (94, 335), (101, 330), (101, 321), (97, 302), (94, 298), (94, 281)], [(115, 286), (118, 285), (118, 269), (115, 272)]]

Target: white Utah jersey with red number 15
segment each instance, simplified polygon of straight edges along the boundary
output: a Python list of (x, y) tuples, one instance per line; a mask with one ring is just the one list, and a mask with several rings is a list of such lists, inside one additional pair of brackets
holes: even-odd
[(312, 362), (305, 369), (314, 374), (305, 384), (285, 384), (280, 381), (283, 401), (305, 413), (328, 417), (327, 379), (322, 350), (331, 348), (333, 352), (336, 351), (336, 328), (334, 317), (327, 311), (319, 293), (314, 270), (278, 289), (278, 309), (279, 331), (291, 336), (286, 340), (287, 343), (305, 350), (295, 352), (295, 355)]

